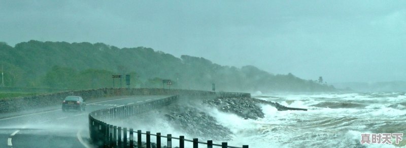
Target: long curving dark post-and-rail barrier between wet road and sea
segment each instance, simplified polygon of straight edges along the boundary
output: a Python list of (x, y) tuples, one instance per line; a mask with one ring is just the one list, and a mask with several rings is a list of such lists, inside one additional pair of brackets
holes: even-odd
[[(206, 93), (188, 93), (184, 95), (173, 95), (170, 97), (162, 98), (159, 100), (154, 100), (150, 102), (144, 102), (140, 104), (130, 104), (115, 108), (97, 110), (89, 113), (89, 133), (91, 141), (98, 147), (142, 147), (142, 135), (146, 135), (146, 147), (151, 146), (151, 135), (156, 137), (156, 147), (161, 148), (161, 138), (166, 138), (166, 147), (172, 147), (172, 139), (179, 140), (179, 147), (185, 147), (185, 141), (193, 143), (193, 148), (197, 148), (198, 144), (206, 144), (208, 148), (213, 146), (221, 146), (222, 148), (232, 147), (232, 148), (248, 148), (248, 145), (243, 145), (242, 147), (228, 146), (227, 142), (222, 142), (221, 144), (213, 143), (213, 140), (208, 140), (207, 142), (198, 141), (197, 138), (185, 139), (184, 136), (173, 137), (172, 134), (167, 134), (166, 136), (161, 135), (161, 133), (151, 134), (150, 131), (143, 133), (141, 130), (134, 131), (132, 128), (117, 127), (112, 124), (108, 124), (106, 120), (119, 119), (128, 117), (135, 114), (145, 113), (163, 106), (170, 105), (171, 103), (179, 100), (180, 97), (199, 97), (199, 98), (214, 98), (214, 97), (250, 97), (249, 93), (240, 92), (206, 92)], [(134, 134), (137, 134), (137, 145), (134, 145)], [(127, 137), (129, 135), (129, 137)], [(129, 140), (127, 141), (127, 139)]]

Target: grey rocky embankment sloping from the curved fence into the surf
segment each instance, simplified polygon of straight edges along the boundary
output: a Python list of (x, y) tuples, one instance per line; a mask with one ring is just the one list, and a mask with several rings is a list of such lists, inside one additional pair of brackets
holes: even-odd
[(278, 103), (259, 100), (257, 98), (227, 98), (180, 101), (165, 107), (163, 113), (165, 119), (177, 130), (203, 139), (230, 140), (232, 132), (223, 125), (217, 123), (216, 119), (207, 112), (217, 108), (221, 112), (232, 113), (244, 119), (263, 118), (264, 113), (260, 104), (274, 106), (278, 111), (303, 110), (282, 106)]

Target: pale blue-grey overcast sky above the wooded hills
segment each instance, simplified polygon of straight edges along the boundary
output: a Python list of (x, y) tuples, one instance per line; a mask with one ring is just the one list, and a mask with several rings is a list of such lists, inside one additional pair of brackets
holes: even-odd
[(0, 41), (151, 47), (330, 82), (406, 80), (406, 1), (0, 1)]

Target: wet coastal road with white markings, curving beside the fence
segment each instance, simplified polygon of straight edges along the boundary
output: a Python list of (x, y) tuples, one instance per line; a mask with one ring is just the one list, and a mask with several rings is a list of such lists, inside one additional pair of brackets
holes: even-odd
[[(86, 111), (62, 112), (61, 106), (46, 111), (0, 119), (0, 147), (92, 147), (88, 114), (95, 110), (143, 103), (164, 95), (126, 96), (114, 100), (87, 102)], [(7, 113), (1, 113), (7, 114)]]

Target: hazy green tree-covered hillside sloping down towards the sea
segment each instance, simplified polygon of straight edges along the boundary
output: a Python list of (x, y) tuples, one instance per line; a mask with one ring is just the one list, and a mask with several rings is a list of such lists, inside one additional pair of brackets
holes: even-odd
[[(118, 48), (104, 43), (41, 42), (12, 47), (0, 43), (6, 86), (88, 89), (113, 87), (111, 75), (130, 74), (130, 87), (162, 87), (227, 91), (331, 91), (332, 86), (292, 74), (270, 74), (254, 66), (221, 66), (204, 58), (174, 57), (152, 48)], [(116, 87), (119, 85), (116, 79)], [(123, 87), (125, 81), (123, 79)], [(165, 88), (167, 86), (165, 85)]]

